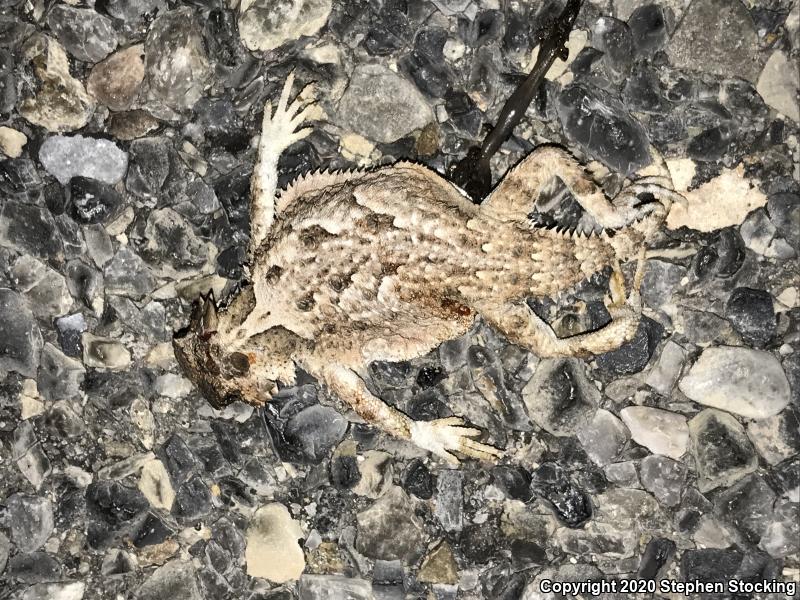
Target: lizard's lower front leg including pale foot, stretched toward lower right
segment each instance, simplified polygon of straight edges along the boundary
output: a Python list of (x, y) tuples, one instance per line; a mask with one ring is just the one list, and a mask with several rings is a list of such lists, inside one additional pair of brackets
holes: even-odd
[(480, 435), (480, 430), (464, 427), (464, 421), (459, 417), (414, 421), (373, 396), (361, 377), (347, 367), (325, 366), (319, 379), (368, 423), (395, 437), (410, 440), (451, 465), (458, 465), (458, 459), (451, 453), (453, 451), (492, 462), (503, 455), (497, 448), (471, 439)]

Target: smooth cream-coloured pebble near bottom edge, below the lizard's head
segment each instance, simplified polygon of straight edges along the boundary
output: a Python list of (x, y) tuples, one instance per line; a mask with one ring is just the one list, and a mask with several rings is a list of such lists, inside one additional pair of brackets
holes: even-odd
[(247, 574), (274, 583), (298, 579), (306, 566), (300, 525), (277, 502), (259, 508), (247, 527)]

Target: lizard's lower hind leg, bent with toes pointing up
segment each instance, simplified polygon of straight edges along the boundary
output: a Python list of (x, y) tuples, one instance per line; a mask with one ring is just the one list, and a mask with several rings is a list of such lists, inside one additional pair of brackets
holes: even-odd
[(541, 357), (589, 356), (619, 348), (633, 339), (642, 315), (639, 286), (644, 272), (644, 255), (640, 253), (633, 289), (625, 298), (624, 277), (619, 264), (614, 266), (609, 285), (610, 299), (606, 308), (611, 322), (597, 331), (559, 338), (553, 329), (524, 302), (500, 306), (482, 306), (480, 313), (511, 341)]

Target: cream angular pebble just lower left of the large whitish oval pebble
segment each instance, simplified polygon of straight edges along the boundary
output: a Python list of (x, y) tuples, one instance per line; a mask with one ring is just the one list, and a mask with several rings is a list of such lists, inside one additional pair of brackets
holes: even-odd
[(653, 454), (679, 459), (689, 445), (686, 417), (660, 408), (629, 406), (619, 416), (628, 426), (631, 438)]

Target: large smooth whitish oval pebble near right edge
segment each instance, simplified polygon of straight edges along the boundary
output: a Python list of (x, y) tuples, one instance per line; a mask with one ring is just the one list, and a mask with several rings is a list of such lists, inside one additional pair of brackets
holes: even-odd
[(695, 402), (750, 419), (778, 414), (791, 396), (778, 359), (738, 346), (704, 350), (678, 387)]

